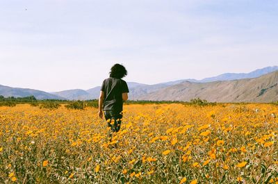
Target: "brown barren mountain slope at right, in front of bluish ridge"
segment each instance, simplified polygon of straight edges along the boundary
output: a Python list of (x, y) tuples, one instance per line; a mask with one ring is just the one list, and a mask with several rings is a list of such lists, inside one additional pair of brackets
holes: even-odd
[(139, 100), (190, 101), (206, 99), (217, 102), (271, 102), (278, 101), (278, 71), (259, 78), (210, 83), (183, 82), (138, 97)]

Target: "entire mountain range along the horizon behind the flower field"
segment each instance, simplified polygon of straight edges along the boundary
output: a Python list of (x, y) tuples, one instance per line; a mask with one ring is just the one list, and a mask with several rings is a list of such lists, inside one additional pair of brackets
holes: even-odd
[[(275, 66), (256, 69), (247, 74), (226, 73), (202, 80), (183, 79), (154, 85), (128, 82), (129, 99), (190, 101), (190, 99), (199, 97), (219, 102), (270, 102), (278, 100), (277, 72), (278, 67)], [(89, 90), (75, 89), (47, 93), (40, 90), (0, 85), (0, 95), (4, 97), (34, 95), (37, 99), (97, 99), (99, 90), (100, 86)]]

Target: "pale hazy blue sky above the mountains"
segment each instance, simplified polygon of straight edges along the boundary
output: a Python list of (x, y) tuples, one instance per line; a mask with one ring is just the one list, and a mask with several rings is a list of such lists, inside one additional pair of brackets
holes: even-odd
[(278, 1), (1, 0), (0, 84), (47, 92), (278, 65)]

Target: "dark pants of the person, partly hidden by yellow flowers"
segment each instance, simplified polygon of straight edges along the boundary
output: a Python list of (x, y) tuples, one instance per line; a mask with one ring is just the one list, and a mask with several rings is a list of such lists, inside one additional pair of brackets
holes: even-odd
[(113, 111), (104, 111), (105, 119), (109, 127), (111, 127), (111, 131), (118, 132), (121, 128), (122, 123), (122, 114), (113, 112)]

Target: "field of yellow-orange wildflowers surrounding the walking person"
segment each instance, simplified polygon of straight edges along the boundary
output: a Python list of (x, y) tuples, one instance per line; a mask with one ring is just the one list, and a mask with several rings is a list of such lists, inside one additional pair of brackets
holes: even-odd
[(0, 183), (278, 183), (277, 115), (133, 104), (110, 142), (96, 108), (0, 107)]

